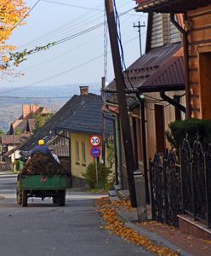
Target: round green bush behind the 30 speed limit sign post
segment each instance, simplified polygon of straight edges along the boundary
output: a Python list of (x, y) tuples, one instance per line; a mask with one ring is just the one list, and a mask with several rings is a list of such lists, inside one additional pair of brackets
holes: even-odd
[[(97, 188), (96, 181), (96, 167), (95, 163), (88, 165), (83, 177), (85, 177), (88, 187), (90, 189)], [(104, 166), (103, 164), (98, 164), (98, 188), (97, 189), (107, 189), (108, 177), (111, 174), (111, 170)]]

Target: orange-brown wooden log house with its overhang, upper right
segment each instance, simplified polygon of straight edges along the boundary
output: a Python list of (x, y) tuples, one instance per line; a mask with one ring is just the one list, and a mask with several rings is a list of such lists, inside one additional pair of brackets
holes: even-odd
[(211, 1), (141, 1), (137, 0), (137, 11), (163, 14), (184, 14), (185, 26), (179, 26), (183, 34), (184, 55), (186, 56), (185, 86), (186, 104), (190, 117), (211, 118)]

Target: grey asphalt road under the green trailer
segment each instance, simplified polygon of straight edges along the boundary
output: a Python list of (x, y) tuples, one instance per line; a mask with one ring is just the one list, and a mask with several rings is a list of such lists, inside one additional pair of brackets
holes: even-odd
[(94, 202), (101, 195), (68, 191), (66, 207), (50, 199), (15, 201), (16, 177), (0, 174), (0, 256), (151, 255), (121, 237), (101, 230)]

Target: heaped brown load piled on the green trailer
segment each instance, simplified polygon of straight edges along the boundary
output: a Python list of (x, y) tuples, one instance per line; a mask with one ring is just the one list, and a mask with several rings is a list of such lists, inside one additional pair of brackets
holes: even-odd
[(20, 176), (31, 175), (67, 175), (65, 168), (61, 166), (53, 157), (38, 152), (26, 162), (26, 166), (20, 171)]

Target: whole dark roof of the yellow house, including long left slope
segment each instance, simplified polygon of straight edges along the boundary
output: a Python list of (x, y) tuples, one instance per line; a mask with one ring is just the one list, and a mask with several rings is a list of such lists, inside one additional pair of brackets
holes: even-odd
[(50, 143), (57, 135), (55, 128), (66, 131), (100, 133), (102, 99), (100, 96), (72, 96), (36, 134), (20, 147), (20, 150), (31, 150), (39, 139)]

